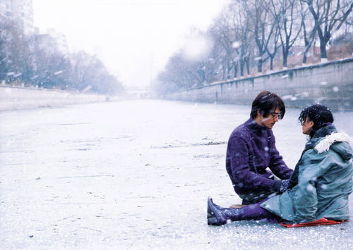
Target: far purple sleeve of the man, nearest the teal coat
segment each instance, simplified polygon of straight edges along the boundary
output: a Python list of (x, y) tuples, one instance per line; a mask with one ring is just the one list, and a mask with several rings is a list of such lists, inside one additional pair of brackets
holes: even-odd
[(275, 137), (273, 134), (271, 135), (272, 137), (272, 143), (270, 146), (270, 165), (268, 168), (281, 180), (287, 180), (289, 177), (292, 175), (293, 170), (291, 168), (287, 167), (287, 164), (285, 161), (283, 161), (282, 156), (280, 156), (280, 152), (278, 152), (276, 148), (276, 143), (275, 143)]

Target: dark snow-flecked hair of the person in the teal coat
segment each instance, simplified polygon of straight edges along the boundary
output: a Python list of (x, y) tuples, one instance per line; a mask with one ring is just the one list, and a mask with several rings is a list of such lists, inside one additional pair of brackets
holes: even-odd
[(298, 118), (299, 122), (304, 124), (306, 118), (313, 121), (313, 127), (311, 128), (313, 132), (316, 132), (325, 125), (333, 123), (333, 114), (330, 108), (320, 104), (313, 104), (302, 110)]

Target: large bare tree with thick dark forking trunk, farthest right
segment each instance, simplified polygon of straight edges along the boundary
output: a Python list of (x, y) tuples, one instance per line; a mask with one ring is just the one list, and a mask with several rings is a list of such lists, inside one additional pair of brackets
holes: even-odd
[(327, 60), (326, 45), (352, 12), (352, 0), (301, 0), (306, 3), (320, 39), (321, 59)]

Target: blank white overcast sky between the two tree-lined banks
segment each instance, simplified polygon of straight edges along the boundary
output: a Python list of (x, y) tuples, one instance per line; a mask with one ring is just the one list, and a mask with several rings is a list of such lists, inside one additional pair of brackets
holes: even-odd
[(35, 26), (64, 33), (71, 52), (96, 54), (126, 86), (145, 87), (228, 0), (34, 0)]

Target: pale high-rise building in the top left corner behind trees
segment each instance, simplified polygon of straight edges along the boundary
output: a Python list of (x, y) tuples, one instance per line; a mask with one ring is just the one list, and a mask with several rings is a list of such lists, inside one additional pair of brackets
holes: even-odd
[(32, 35), (35, 32), (32, 0), (1, 0), (0, 18), (14, 20), (23, 28), (25, 35)]

